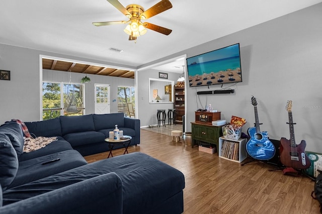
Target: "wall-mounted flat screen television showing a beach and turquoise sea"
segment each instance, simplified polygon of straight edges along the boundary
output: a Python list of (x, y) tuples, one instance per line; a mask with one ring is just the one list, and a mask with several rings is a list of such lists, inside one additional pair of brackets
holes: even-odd
[(190, 87), (241, 82), (239, 43), (187, 58)]

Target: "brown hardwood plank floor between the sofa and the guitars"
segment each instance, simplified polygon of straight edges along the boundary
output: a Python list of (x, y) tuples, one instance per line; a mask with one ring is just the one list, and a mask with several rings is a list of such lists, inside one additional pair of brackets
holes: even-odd
[[(301, 176), (268, 171), (272, 167), (254, 161), (241, 166), (199, 152), (172, 137), (141, 130), (141, 141), (128, 148), (161, 160), (185, 175), (184, 213), (319, 213), (312, 199), (314, 182)], [(122, 155), (124, 149), (113, 151)], [(108, 152), (85, 157), (90, 162), (107, 158)]]

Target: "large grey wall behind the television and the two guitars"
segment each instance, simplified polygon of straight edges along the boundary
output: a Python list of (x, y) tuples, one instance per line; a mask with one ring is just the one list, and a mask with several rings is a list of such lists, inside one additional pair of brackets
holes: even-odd
[[(192, 57), (204, 52), (240, 43), (243, 82), (233, 94), (196, 95), (196, 91), (220, 89), (218, 86), (187, 88), (186, 131), (191, 131), (194, 112), (212, 104), (223, 119), (245, 118), (243, 131), (254, 126), (251, 96), (258, 101), (261, 131), (272, 139), (289, 139), (287, 100), (293, 100), (295, 140), (307, 143), (307, 151), (322, 153), (322, 4), (300, 10), (275, 20), (213, 40), (203, 45), (159, 59), (149, 64), (187, 54)], [(256, 18), (254, 18), (256, 19)], [(223, 86), (229, 86), (226, 84)]]

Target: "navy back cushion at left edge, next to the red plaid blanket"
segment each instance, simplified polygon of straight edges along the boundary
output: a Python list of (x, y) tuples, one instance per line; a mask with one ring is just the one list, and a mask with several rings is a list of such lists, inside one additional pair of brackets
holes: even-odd
[(24, 135), (19, 124), (9, 122), (0, 127), (0, 134), (8, 135), (19, 157), (24, 148)]

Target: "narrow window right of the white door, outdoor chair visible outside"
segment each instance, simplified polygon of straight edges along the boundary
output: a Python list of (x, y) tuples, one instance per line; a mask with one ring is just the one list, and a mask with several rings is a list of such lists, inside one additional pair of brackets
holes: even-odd
[[(135, 106), (135, 88), (130, 86), (118, 86), (117, 87), (117, 106), (118, 112), (124, 112), (127, 116), (127, 104), (126, 102), (132, 102)], [(135, 111), (135, 110), (134, 110)]]

